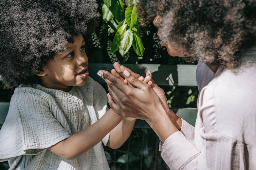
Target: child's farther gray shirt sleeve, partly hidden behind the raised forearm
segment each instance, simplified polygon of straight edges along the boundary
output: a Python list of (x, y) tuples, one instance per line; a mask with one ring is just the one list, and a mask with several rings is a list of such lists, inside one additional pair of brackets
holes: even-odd
[[(107, 93), (105, 89), (96, 81), (94, 81), (94, 89), (93, 89), (93, 106), (97, 115), (97, 119), (101, 118), (108, 110), (108, 99)], [(108, 133), (103, 139), (102, 142), (105, 146), (107, 146), (109, 140)]]

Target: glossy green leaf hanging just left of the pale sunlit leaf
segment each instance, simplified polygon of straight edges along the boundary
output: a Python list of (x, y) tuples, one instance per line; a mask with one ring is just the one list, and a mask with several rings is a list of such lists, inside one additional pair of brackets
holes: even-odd
[(127, 24), (126, 24), (125, 20), (118, 25), (118, 27), (116, 29), (117, 31), (115, 33), (115, 37), (112, 42), (112, 47), (111, 47), (110, 52), (113, 53), (119, 49), (119, 44), (120, 44), (123, 34), (126, 31), (126, 27), (127, 27)]

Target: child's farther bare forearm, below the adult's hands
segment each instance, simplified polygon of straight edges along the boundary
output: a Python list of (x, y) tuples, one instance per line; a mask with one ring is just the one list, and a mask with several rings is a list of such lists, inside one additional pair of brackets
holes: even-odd
[(131, 135), (135, 121), (136, 120), (130, 121), (124, 118), (113, 130), (111, 130), (107, 144), (108, 147), (112, 149), (120, 148)]

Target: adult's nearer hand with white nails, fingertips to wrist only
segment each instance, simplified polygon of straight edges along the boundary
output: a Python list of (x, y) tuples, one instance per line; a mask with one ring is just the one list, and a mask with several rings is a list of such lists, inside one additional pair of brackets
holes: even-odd
[(98, 73), (102, 74), (101, 77), (110, 89), (108, 102), (111, 108), (121, 116), (147, 120), (154, 112), (165, 112), (161, 99), (149, 84), (137, 79), (127, 70), (124, 74), (129, 75), (124, 77), (135, 88), (107, 71), (100, 70)]

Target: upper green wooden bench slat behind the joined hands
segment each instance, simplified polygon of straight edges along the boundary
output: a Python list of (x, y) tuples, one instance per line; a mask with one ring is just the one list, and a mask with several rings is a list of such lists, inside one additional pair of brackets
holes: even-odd
[[(132, 71), (145, 76), (148, 69), (152, 72), (153, 79), (161, 86), (197, 86), (196, 67), (197, 65), (160, 65), (160, 64), (124, 64)], [(110, 71), (112, 64), (90, 63), (90, 76), (104, 83), (103, 79), (97, 75), (98, 70)]]

